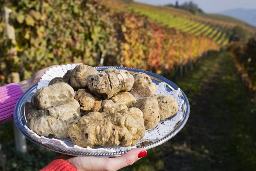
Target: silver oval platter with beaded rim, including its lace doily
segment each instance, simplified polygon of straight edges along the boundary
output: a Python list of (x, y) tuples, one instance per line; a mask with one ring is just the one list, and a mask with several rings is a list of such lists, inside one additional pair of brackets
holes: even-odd
[[(18, 129), (22, 132), (22, 134), (32, 141), (33, 143), (42, 146), (46, 149), (52, 150), (54, 152), (68, 154), (73, 156), (85, 156), (85, 157), (116, 157), (122, 154), (125, 154), (132, 148), (142, 147), (146, 150), (153, 148), (155, 146), (159, 146), (160, 144), (170, 140), (174, 137), (186, 124), (190, 107), (189, 102), (184, 94), (184, 92), (173, 82), (170, 80), (148, 71), (144, 71), (141, 69), (134, 68), (126, 68), (126, 67), (94, 67), (99, 72), (108, 69), (108, 68), (116, 68), (116, 69), (125, 69), (129, 71), (131, 74), (136, 72), (143, 72), (150, 76), (152, 81), (156, 83), (159, 87), (159, 90), (156, 94), (169, 94), (173, 96), (175, 100), (179, 104), (179, 111), (176, 115), (167, 118), (163, 121), (160, 121), (157, 127), (147, 130), (145, 137), (139, 141), (135, 146), (131, 147), (101, 147), (95, 146), (93, 148), (87, 147), (82, 148), (76, 146), (72, 143), (70, 138), (67, 139), (58, 139), (52, 137), (43, 137), (37, 135), (35, 132), (30, 130), (27, 125), (26, 115), (30, 108), (31, 97), (34, 93), (41, 87), (47, 86), (49, 81), (54, 77), (62, 77), (68, 69), (73, 69), (75, 64), (62, 65), (58, 67), (53, 67), (49, 69), (48, 72), (42, 76), (42, 79), (39, 83), (32, 86), (29, 90), (27, 90), (20, 98), (16, 104), (14, 110), (14, 122)], [(144, 142), (144, 143), (143, 143)]]

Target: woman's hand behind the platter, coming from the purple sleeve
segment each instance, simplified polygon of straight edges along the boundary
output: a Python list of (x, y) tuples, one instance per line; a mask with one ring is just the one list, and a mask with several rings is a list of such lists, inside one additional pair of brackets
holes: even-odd
[[(82, 63), (77, 63), (77, 64), (82, 64)], [(23, 80), (20, 81), (18, 83), (18, 85), (20, 86), (21, 90), (23, 92), (27, 91), (30, 87), (32, 87), (33, 85), (35, 85), (36, 83), (39, 82), (39, 80), (41, 79), (41, 77), (43, 76), (44, 72), (47, 71), (48, 69), (52, 68), (52, 67), (57, 67), (58, 65), (52, 65), (50, 67), (41, 69), (39, 71), (37, 71), (31, 78), (27, 79), (27, 80)]]

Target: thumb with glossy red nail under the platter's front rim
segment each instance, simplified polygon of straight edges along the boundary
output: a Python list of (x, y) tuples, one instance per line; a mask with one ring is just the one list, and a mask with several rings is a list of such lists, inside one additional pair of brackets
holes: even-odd
[(132, 165), (140, 158), (147, 155), (147, 151), (143, 148), (134, 148), (124, 155), (116, 158), (109, 158), (110, 170), (119, 170), (126, 166)]

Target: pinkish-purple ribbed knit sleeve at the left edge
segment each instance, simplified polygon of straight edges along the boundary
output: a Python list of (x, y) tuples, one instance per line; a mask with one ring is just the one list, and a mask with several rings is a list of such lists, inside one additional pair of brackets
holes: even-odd
[(13, 118), (14, 107), (22, 94), (16, 83), (0, 87), (0, 123)]

